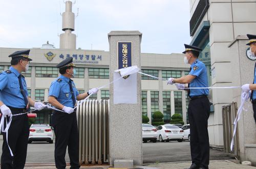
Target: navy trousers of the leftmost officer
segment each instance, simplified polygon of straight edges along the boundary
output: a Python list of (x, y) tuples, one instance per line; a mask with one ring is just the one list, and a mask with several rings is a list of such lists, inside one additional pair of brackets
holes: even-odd
[[(25, 108), (9, 108), (13, 115), (27, 112)], [(9, 121), (9, 117), (7, 119)], [(1, 156), (1, 168), (24, 168), (29, 138), (28, 115), (25, 114), (12, 117), (12, 122), (8, 130), (8, 144), (12, 150), (13, 158), (11, 157), (9, 147), (6, 142), (5, 132), (3, 132), (3, 137), (4, 143), (2, 147), (3, 153)]]

